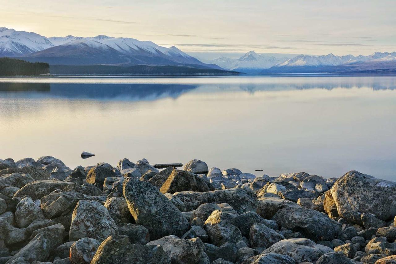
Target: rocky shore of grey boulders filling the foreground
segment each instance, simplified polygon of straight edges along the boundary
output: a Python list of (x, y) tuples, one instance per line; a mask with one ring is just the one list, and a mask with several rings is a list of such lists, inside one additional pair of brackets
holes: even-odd
[(354, 170), (0, 160), (0, 264), (390, 264), (395, 215), (396, 183)]

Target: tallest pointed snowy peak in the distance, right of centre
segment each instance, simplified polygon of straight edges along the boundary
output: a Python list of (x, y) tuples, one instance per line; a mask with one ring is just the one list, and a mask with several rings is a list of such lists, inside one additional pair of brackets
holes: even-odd
[(276, 58), (264, 54), (257, 54), (254, 51), (247, 52), (239, 59), (230, 59), (227, 57), (219, 57), (210, 61), (220, 67), (232, 71), (242, 71), (245, 73), (257, 73), (263, 69), (268, 69), (280, 62), (283, 62), (287, 57)]

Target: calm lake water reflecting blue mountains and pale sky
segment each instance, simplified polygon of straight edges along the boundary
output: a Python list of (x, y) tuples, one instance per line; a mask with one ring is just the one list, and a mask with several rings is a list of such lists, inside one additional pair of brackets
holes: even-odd
[(0, 159), (51, 155), (70, 168), (201, 159), (257, 176), (396, 181), (396, 77), (0, 79), (0, 138)]

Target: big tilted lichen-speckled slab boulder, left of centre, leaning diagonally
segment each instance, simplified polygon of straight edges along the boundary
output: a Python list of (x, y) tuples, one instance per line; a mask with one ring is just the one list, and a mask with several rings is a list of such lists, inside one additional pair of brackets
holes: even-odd
[(186, 217), (157, 187), (128, 177), (124, 180), (123, 193), (136, 224), (147, 228), (151, 239), (166, 235), (181, 237), (188, 231)]

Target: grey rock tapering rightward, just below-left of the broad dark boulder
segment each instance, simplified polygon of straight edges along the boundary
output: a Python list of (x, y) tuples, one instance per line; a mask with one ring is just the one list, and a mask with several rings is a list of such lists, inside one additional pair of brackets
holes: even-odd
[(282, 239), (285, 239), (283, 235), (264, 224), (254, 223), (250, 228), (249, 242), (251, 247), (268, 248)]

